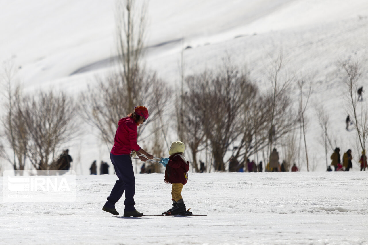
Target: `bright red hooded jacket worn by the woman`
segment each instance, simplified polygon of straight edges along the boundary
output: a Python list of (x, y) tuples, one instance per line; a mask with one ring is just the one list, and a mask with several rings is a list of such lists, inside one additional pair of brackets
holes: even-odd
[(110, 153), (128, 155), (132, 150), (138, 152), (140, 149), (141, 147), (137, 144), (137, 123), (130, 117), (120, 119)]

